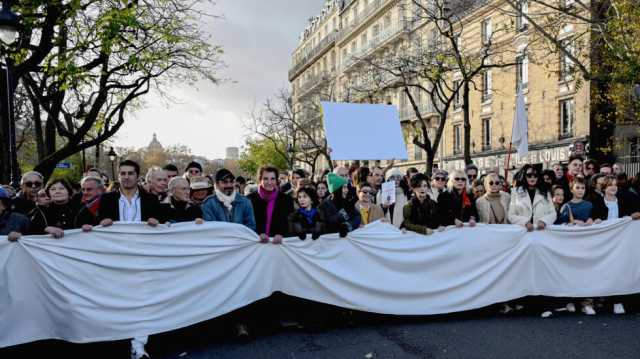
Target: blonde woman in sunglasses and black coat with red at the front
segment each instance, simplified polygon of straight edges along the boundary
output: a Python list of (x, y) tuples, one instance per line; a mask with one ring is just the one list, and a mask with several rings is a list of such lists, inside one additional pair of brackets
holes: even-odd
[(448, 190), (438, 197), (436, 206), (440, 227), (462, 227), (464, 223), (475, 226), (478, 211), (473, 194), (467, 192), (467, 175), (460, 170), (453, 171), (447, 187)]

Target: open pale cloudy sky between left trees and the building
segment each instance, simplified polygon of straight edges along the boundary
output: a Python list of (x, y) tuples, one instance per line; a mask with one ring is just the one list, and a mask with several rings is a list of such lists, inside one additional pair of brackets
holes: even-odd
[(143, 147), (157, 133), (164, 145), (183, 144), (195, 155), (224, 158), (225, 148), (240, 147), (247, 135), (247, 114), (288, 86), (291, 53), (309, 17), (324, 0), (218, 0), (210, 12), (223, 15), (206, 25), (225, 50), (227, 68), (220, 74), (233, 82), (198, 88), (176, 84), (170, 93), (178, 103), (156, 95), (118, 133), (117, 146)]

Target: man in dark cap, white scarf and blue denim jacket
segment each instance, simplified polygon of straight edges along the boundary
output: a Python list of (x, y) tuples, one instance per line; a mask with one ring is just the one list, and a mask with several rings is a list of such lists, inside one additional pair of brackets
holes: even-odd
[(251, 202), (236, 192), (235, 177), (226, 168), (216, 172), (215, 193), (202, 204), (205, 221), (243, 224), (256, 230), (256, 220)]

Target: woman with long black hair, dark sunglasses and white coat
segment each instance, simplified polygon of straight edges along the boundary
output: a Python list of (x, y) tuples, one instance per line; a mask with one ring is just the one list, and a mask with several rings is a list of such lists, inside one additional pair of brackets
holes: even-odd
[(521, 225), (528, 231), (547, 228), (556, 220), (549, 187), (539, 178), (538, 170), (526, 164), (515, 175), (515, 189), (509, 204), (509, 222)]

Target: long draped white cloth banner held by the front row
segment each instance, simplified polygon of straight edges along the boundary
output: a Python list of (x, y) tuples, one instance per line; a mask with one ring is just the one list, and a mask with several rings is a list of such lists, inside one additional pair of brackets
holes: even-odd
[(403, 234), (375, 222), (339, 239), (260, 244), (208, 222), (115, 224), (62, 240), (0, 237), (0, 347), (169, 331), (282, 291), (376, 313), (439, 314), (526, 295), (640, 292), (640, 221), (525, 232), (513, 225)]

